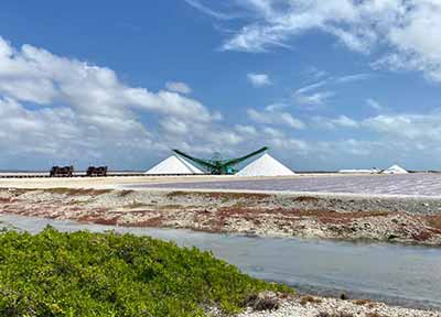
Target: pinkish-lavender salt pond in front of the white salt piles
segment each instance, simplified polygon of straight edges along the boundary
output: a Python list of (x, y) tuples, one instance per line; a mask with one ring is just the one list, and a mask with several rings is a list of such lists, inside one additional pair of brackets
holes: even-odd
[(125, 185), (125, 187), (207, 188), (441, 196), (441, 174), (299, 176), (281, 179)]

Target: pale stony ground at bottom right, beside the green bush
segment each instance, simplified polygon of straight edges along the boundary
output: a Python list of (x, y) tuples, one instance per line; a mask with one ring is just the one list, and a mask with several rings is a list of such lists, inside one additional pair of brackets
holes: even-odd
[(238, 317), (439, 317), (440, 311), (388, 306), (367, 299), (344, 300), (315, 296), (279, 298), (259, 294)]

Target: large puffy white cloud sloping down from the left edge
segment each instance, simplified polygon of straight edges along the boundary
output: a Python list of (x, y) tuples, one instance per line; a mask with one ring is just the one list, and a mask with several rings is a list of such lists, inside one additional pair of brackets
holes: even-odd
[[(8, 153), (3, 156), (9, 162), (25, 162), (33, 153), (41, 155), (40, 162), (86, 165), (93, 157), (107, 157), (135, 164), (142, 149), (164, 151), (178, 132), (176, 143), (191, 142), (193, 127), (209, 130), (222, 119), (219, 112), (183, 96), (182, 85), (179, 88), (180, 92), (153, 92), (131, 87), (110, 68), (32, 45), (18, 50), (0, 37), (0, 145)], [(158, 127), (147, 127), (141, 113), (155, 118)], [(209, 143), (209, 135), (201, 142)]]

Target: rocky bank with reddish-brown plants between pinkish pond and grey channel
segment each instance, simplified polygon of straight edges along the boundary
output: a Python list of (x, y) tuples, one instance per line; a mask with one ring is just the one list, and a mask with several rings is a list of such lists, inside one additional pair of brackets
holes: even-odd
[(441, 245), (441, 201), (428, 198), (10, 188), (0, 189), (0, 210), (103, 225)]

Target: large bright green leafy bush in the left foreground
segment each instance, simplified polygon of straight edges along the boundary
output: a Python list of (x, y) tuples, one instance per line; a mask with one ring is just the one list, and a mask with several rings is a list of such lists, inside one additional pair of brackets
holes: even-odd
[(205, 316), (226, 314), (262, 291), (208, 252), (131, 234), (0, 234), (0, 316)]

